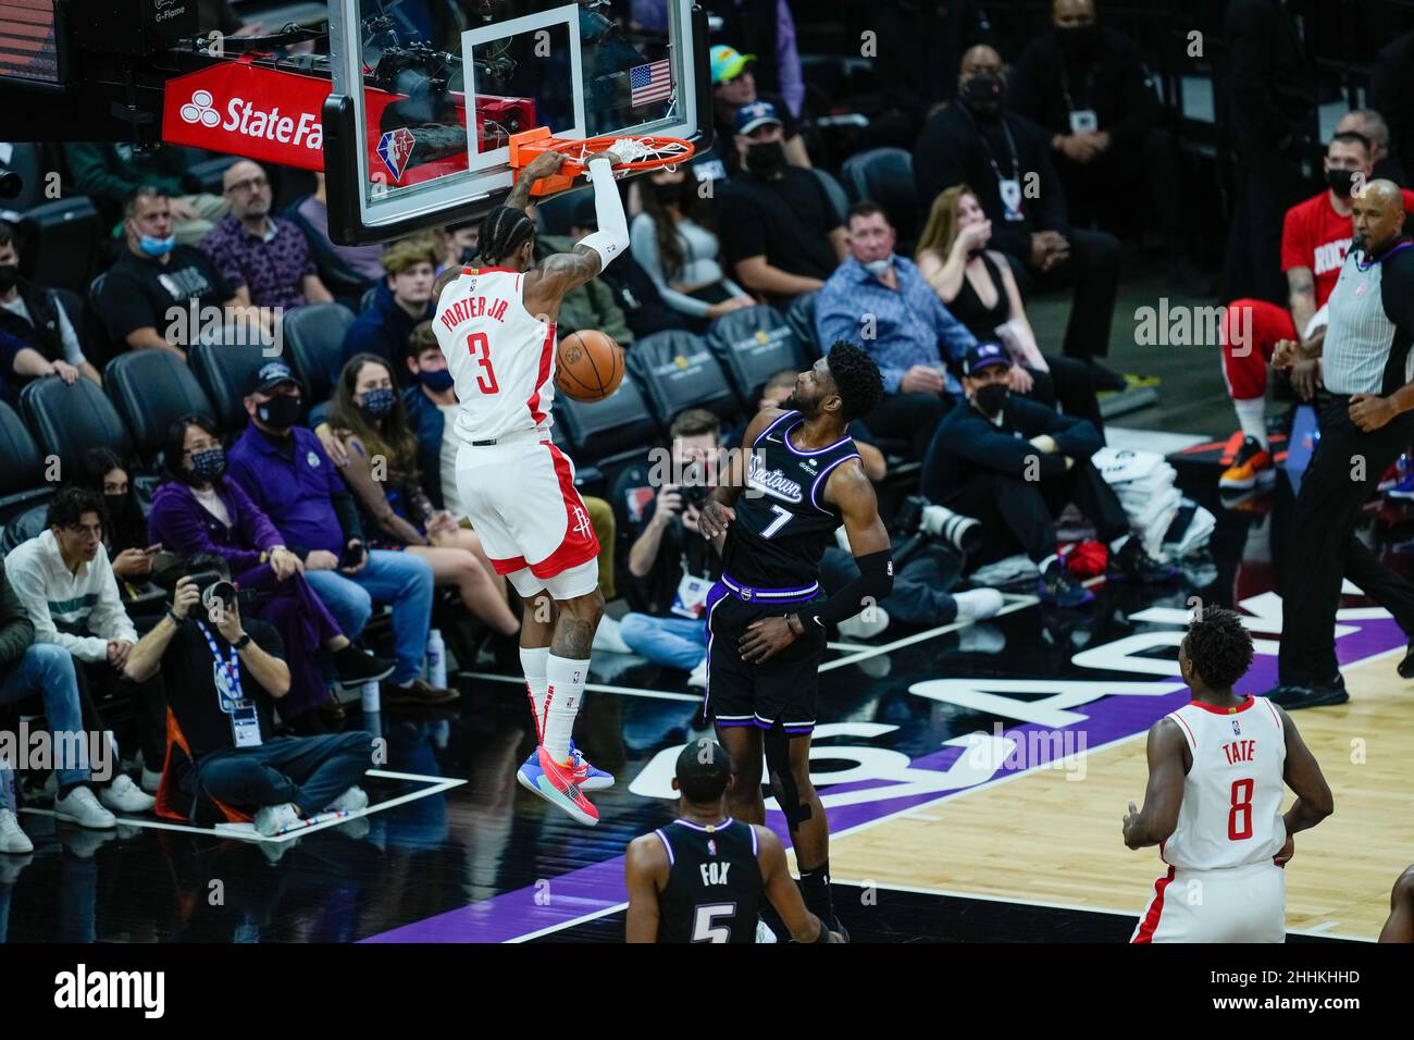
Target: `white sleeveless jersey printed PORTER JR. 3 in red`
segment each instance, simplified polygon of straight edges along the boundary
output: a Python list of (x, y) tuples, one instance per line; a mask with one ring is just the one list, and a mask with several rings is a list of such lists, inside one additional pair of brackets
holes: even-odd
[(525, 273), (462, 267), (437, 301), (433, 328), (457, 388), (462, 441), (523, 430), (549, 436), (554, 403), (554, 323), (526, 310)]

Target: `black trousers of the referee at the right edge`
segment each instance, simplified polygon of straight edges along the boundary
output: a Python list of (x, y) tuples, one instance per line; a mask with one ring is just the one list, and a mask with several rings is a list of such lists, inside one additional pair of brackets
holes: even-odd
[(1390, 611), (1406, 634), (1414, 632), (1414, 584), (1386, 570), (1355, 536), (1360, 507), (1414, 440), (1414, 415), (1365, 433), (1350, 420), (1349, 408), (1350, 399), (1338, 395), (1322, 409), (1321, 440), (1297, 494), (1281, 607), (1282, 683), (1326, 685), (1339, 676), (1335, 613), (1342, 577)]

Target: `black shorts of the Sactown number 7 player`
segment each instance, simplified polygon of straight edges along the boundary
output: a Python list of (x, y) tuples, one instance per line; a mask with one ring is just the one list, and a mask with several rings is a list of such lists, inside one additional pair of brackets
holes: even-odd
[(707, 693), (703, 713), (718, 726), (756, 726), (807, 734), (814, 729), (826, 634), (812, 624), (806, 634), (764, 664), (741, 659), (738, 641), (761, 617), (785, 617), (799, 603), (745, 603), (718, 582), (707, 593)]

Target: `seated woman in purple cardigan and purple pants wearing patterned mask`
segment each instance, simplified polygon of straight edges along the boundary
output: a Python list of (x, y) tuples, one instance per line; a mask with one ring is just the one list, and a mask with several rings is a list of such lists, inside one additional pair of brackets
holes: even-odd
[(167, 480), (153, 494), (148, 538), (188, 559), (222, 559), (240, 589), (259, 597), (247, 613), (273, 624), (288, 654), (290, 696), (280, 703), (286, 722), (297, 729), (314, 727), (315, 717), (342, 722), (344, 709), (329, 696), (327, 659), (349, 686), (386, 678), (393, 662), (363, 654), (344, 635), (305, 580), (304, 560), (226, 475), (226, 453), (211, 419), (175, 419), (163, 458)]

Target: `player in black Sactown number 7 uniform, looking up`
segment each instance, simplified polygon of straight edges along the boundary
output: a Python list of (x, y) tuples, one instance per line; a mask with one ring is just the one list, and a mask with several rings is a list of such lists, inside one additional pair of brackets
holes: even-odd
[[(697, 521), (704, 536), (725, 536), (721, 580), (706, 603), (704, 712), (735, 763), (727, 808), (737, 819), (765, 824), (765, 747), (806, 906), (837, 931), (830, 831), (810, 784), (810, 733), (824, 627), (854, 617), (894, 587), (888, 531), (846, 433), (882, 392), (870, 357), (836, 342), (800, 375), (785, 410), (766, 408), (751, 420), (742, 453)], [(841, 524), (860, 577), (824, 600), (820, 556)]]

